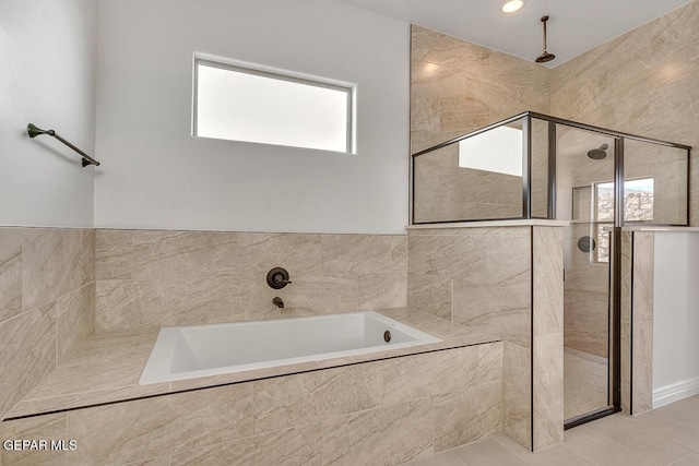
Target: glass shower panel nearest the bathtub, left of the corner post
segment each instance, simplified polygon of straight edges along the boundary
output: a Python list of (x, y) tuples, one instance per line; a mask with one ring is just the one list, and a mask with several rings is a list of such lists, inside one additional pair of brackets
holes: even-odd
[(522, 120), (414, 157), (414, 223), (522, 217)]

